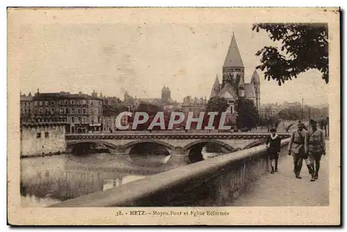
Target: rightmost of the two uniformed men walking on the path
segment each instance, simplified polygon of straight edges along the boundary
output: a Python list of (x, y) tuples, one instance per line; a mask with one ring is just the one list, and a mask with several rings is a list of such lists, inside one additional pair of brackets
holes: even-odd
[(308, 157), (314, 170), (314, 179), (318, 179), (321, 157), (325, 156), (325, 136), (321, 129), (317, 129), (317, 122), (311, 122), (311, 129), (308, 131)]

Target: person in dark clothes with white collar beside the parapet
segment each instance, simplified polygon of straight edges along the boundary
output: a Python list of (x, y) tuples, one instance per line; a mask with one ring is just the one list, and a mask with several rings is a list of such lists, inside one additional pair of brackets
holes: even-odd
[(266, 148), (271, 162), (271, 174), (274, 174), (278, 172), (278, 155), (281, 149), (281, 139), (276, 133), (276, 129), (271, 129), (270, 132), (271, 134), (266, 139)]

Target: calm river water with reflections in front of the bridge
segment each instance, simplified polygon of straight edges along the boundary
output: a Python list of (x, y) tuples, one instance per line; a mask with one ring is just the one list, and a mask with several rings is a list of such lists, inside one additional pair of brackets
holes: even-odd
[[(205, 157), (206, 158), (206, 157)], [(164, 172), (169, 156), (64, 154), (21, 160), (22, 207), (45, 207)], [(139, 163), (151, 164), (140, 166)], [(164, 168), (163, 168), (164, 167)]]

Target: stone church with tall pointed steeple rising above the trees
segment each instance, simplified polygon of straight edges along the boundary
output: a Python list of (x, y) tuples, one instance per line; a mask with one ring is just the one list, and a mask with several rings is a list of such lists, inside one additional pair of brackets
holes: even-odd
[(222, 82), (219, 82), (217, 74), (210, 98), (216, 96), (223, 97), (228, 101), (227, 112), (230, 114), (236, 113), (235, 101), (239, 98), (251, 99), (255, 108), (257, 110), (260, 108), (260, 78), (255, 70), (251, 76), (251, 82), (244, 82), (244, 63), (234, 33), (232, 33), (232, 39), (223, 65)]

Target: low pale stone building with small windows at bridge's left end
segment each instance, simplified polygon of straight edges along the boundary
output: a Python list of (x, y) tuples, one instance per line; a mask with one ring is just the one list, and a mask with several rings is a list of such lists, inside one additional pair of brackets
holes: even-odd
[(65, 152), (64, 122), (23, 122), (20, 129), (21, 156)]

